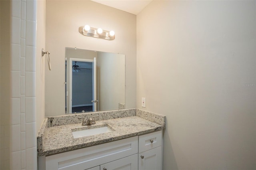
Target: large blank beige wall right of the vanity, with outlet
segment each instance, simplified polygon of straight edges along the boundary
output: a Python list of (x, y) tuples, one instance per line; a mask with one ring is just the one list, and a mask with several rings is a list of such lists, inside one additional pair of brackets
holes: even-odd
[[(149, 19), (150, 18), (150, 19)], [(137, 108), (166, 115), (164, 170), (256, 169), (256, 1), (153, 1)]]

